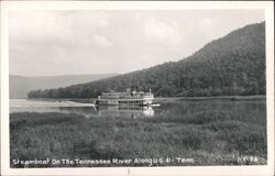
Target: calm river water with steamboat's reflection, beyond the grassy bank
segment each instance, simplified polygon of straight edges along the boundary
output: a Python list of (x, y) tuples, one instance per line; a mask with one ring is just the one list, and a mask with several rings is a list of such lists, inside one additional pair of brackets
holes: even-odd
[[(89, 117), (129, 117), (129, 118), (157, 118), (157, 117), (173, 117), (182, 116), (183, 118), (188, 114), (204, 113), (207, 111), (231, 111), (245, 114), (257, 114), (266, 117), (266, 106), (264, 100), (256, 101), (231, 101), (231, 100), (202, 100), (202, 101), (188, 101), (175, 100), (173, 102), (162, 102), (161, 107), (135, 107), (135, 106), (100, 106), (87, 107), (87, 105), (72, 106), (43, 106), (40, 102), (37, 106), (34, 101), (16, 101), (10, 106), (10, 112), (61, 112), (61, 113), (77, 113), (86, 118)], [(14, 106), (16, 105), (16, 106)], [(28, 106), (25, 106), (28, 105)]]

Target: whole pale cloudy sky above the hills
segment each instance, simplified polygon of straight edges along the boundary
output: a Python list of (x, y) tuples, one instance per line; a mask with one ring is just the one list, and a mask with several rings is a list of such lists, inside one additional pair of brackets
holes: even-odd
[(12, 11), (12, 75), (124, 74), (176, 62), (263, 10)]

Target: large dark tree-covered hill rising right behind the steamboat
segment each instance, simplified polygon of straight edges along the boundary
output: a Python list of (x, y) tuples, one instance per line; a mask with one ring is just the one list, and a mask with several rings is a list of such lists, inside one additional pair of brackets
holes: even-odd
[(128, 87), (153, 92), (162, 88), (162, 96), (172, 97), (264, 95), (265, 23), (238, 29), (179, 62), (63, 89), (31, 91), (29, 97), (90, 98)]

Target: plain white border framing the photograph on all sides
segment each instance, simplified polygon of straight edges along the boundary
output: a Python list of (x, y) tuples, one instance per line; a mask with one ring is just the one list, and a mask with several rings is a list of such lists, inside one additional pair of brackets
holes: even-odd
[[(274, 3), (273, 1), (0, 1), (1, 3), (1, 174), (2, 175), (274, 175)], [(11, 10), (186, 10), (264, 9), (266, 24), (266, 166), (10, 168), (9, 30)]]

